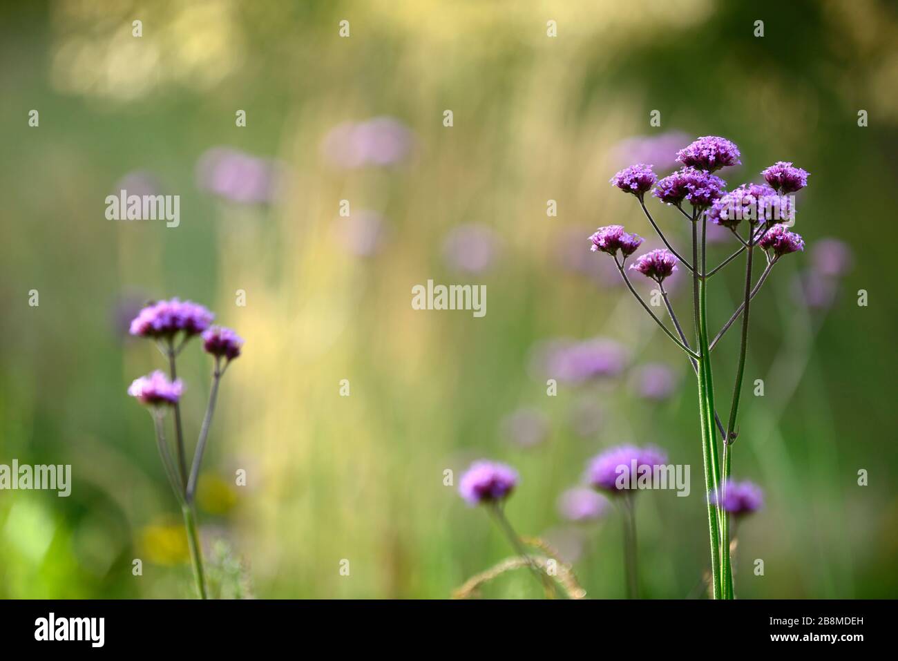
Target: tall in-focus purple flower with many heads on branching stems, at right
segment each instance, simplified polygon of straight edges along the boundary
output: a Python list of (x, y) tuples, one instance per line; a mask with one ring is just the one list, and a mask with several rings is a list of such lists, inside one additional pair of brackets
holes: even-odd
[[(593, 251), (612, 255), (629, 292), (649, 313), (654, 322), (668, 338), (686, 353), (696, 374), (699, 395), (699, 421), (701, 451), (704, 464), (705, 489), (709, 494), (708, 532), (711, 560), (711, 594), (716, 599), (735, 597), (733, 570), (730, 558), (729, 517), (731, 508), (724, 504), (731, 502), (727, 489), (732, 488), (732, 445), (738, 436), (736, 422), (739, 400), (745, 371), (745, 357), (748, 350), (749, 318), (751, 302), (770, 275), (773, 265), (789, 252), (804, 249), (804, 241), (788, 231), (786, 225), (774, 221), (793, 221), (795, 217), (792, 193), (805, 188), (807, 172), (794, 167), (792, 163), (779, 162), (762, 172), (765, 184), (749, 183), (726, 191), (726, 181), (714, 172), (721, 168), (740, 164), (741, 154), (735, 144), (722, 137), (700, 137), (676, 154), (682, 169), (661, 181), (657, 180), (651, 165), (639, 163), (625, 168), (612, 177), (611, 183), (618, 189), (632, 194), (647, 217), (649, 225), (664, 242), (666, 249), (650, 251), (641, 255), (629, 269), (633, 269), (656, 282), (664, 298), (665, 307), (674, 331), (671, 331), (652, 312), (627, 278), (625, 265), (642, 243), (635, 234), (628, 234), (621, 225), (600, 227), (590, 237)], [(645, 196), (653, 190), (654, 197), (674, 207), (691, 224), (691, 262), (674, 249), (660, 225), (649, 212)], [(685, 203), (691, 205), (686, 210)], [(746, 220), (745, 238), (738, 233), (738, 225)], [(708, 224), (714, 223), (730, 229), (742, 247), (722, 261), (718, 266), (708, 266)], [(791, 225), (791, 223), (789, 223)], [(765, 252), (767, 266), (760, 278), (753, 284), (753, 260), (755, 247)], [(709, 279), (727, 265), (745, 254), (745, 278), (743, 301), (723, 328), (716, 335), (709, 332), (708, 287)], [(692, 276), (692, 318), (695, 331), (695, 348), (691, 347), (682, 325), (674, 312), (664, 287), (665, 278), (673, 275), (677, 264), (691, 272)], [(736, 362), (735, 383), (729, 415), (724, 427), (716, 409), (714, 371), (711, 364), (711, 350), (726, 331), (742, 317), (742, 333)], [(718, 435), (719, 432), (719, 435)], [(719, 449), (718, 449), (719, 436)]]

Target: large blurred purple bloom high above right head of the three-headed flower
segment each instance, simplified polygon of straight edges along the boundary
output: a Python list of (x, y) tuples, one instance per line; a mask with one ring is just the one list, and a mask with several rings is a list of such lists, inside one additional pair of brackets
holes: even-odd
[(275, 197), (280, 166), (269, 158), (230, 147), (213, 147), (199, 157), (200, 189), (241, 204), (264, 204)]

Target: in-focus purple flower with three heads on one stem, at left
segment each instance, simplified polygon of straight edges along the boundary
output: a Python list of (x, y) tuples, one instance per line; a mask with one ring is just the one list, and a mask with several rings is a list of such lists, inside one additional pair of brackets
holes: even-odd
[[(181, 302), (177, 298), (159, 301), (146, 306), (131, 322), (130, 332), (138, 337), (154, 339), (163, 356), (167, 358), (169, 376), (156, 370), (142, 376), (128, 388), (128, 394), (149, 407), (153, 417), (156, 445), (162, 459), (163, 470), (184, 517), (184, 529), (190, 552), (190, 564), (201, 599), (207, 598), (206, 576), (203, 570), (202, 546), (199, 541), (195, 498), (199, 468), (206, 449), (209, 428), (216, 408), (218, 384), (231, 361), (240, 356), (243, 340), (234, 331), (214, 327), (210, 324), (214, 315), (202, 305)], [(184, 390), (178, 378), (177, 357), (184, 346), (194, 336), (201, 336), (203, 349), (213, 357), (212, 387), (206, 415), (200, 427), (193, 462), (188, 471), (187, 454), (184, 445), (183, 427), (180, 420), (180, 397)], [(165, 417), (167, 410), (173, 410), (175, 433), (175, 454), (165, 439)]]

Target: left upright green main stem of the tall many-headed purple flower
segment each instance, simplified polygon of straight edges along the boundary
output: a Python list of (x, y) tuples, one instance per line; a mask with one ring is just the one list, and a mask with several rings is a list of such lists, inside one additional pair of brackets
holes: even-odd
[[(714, 411), (712, 384), (709, 380), (709, 348), (708, 348), (708, 323), (707, 323), (707, 297), (705, 281), (699, 275), (699, 248), (697, 225), (700, 214), (693, 213), (692, 221), (692, 261), (696, 269), (692, 274), (692, 299), (695, 313), (696, 339), (699, 347), (699, 413), (701, 423), (701, 450), (705, 472), (705, 492), (717, 494), (718, 489), (718, 462), (717, 448), (714, 441), (714, 422), (711, 412)], [(702, 222), (701, 231), (701, 272), (705, 270), (705, 225)], [(718, 528), (718, 508), (709, 500), (708, 502), (708, 533), (711, 547), (711, 580), (715, 599), (721, 596), (720, 586), (720, 531)]]

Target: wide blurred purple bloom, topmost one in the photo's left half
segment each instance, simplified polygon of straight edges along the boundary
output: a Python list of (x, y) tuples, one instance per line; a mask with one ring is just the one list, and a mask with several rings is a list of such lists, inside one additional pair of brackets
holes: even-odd
[(394, 165), (406, 160), (413, 142), (411, 131), (397, 119), (375, 117), (331, 128), (321, 141), (321, 152), (339, 168)]

